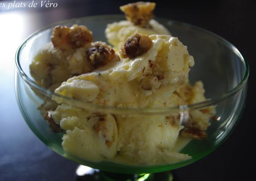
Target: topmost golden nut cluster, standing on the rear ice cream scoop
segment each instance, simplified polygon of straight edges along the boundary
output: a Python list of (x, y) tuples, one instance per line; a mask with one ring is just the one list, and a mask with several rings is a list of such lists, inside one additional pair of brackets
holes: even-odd
[(120, 6), (120, 10), (125, 13), (126, 19), (140, 26), (145, 26), (149, 20), (154, 18), (154, 9), (155, 3), (150, 2), (129, 3)]

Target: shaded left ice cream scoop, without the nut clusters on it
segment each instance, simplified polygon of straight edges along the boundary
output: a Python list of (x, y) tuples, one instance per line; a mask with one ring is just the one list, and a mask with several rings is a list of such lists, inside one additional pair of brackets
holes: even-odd
[[(95, 68), (88, 60), (87, 50), (94, 47), (95, 43), (106, 45), (104, 42), (91, 42), (84, 47), (75, 49), (74, 53), (67, 56), (62, 50), (55, 48), (52, 42), (49, 42), (30, 64), (30, 73), (38, 84), (49, 88), (51, 85), (62, 83), (75, 75), (91, 72)], [(116, 60), (113, 61), (118, 60), (119, 58), (116, 57)]]

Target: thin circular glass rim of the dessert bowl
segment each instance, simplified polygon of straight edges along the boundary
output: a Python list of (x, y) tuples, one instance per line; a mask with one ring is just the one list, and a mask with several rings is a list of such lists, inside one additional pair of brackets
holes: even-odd
[(74, 100), (73, 98), (69, 98), (66, 96), (56, 94), (53, 91), (50, 91), (49, 89), (46, 89), (46, 88), (38, 85), (37, 83), (35, 83), (35, 81), (33, 81), (31, 78), (29, 78), (26, 75), (26, 73), (23, 71), (23, 69), (21, 68), (21, 65), (20, 65), (20, 53), (27, 42), (29, 42), (32, 38), (37, 36), (39, 33), (43, 32), (44, 30), (47, 30), (49, 28), (52, 28), (53, 26), (70, 23), (70, 22), (76, 21), (76, 20), (87, 20), (87, 19), (119, 19), (120, 20), (120, 19), (124, 19), (124, 15), (94, 15), (94, 16), (86, 16), (86, 17), (80, 17), (80, 18), (72, 18), (72, 19), (68, 19), (68, 20), (58, 21), (56, 23), (50, 24), (49, 26), (43, 27), (42, 29), (32, 33), (20, 44), (20, 46), (18, 47), (16, 54), (15, 54), (15, 64), (16, 64), (17, 72), (20, 75), (20, 77), (22, 78), (22, 80), (25, 83), (27, 83), (30, 87), (33, 87), (34, 89), (39, 91), (41, 94), (43, 94), (49, 98), (55, 97), (55, 98), (61, 99), (63, 101), (62, 103), (68, 103), (73, 106), (80, 107), (82, 109), (95, 109), (97, 111), (102, 111), (102, 112), (108, 111), (111, 113), (131, 113), (131, 114), (138, 114), (138, 113), (139, 114), (141, 114), (141, 113), (163, 114), (163, 113), (169, 113), (170, 111), (180, 111), (180, 110), (187, 111), (187, 110), (194, 110), (194, 109), (204, 109), (209, 106), (215, 106), (219, 102), (224, 101), (227, 98), (232, 97), (233, 95), (235, 95), (236, 93), (241, 91), (241, 89), (245, 86), (245, 84), (248, 80), (248, 76), (249, 76), (248, 62), (247, 62), (247, 60), (244, 59), (242, 54), (239, 52), (239, 50), (233, 44), (231, 44), (229, 41), (222, 38), (221, 36), (216, 35), (213, 32), (210, 32), (209, 30), (206, 30), (201, 27), (194, 26), (194, 25), (191, 25), (188, 23), (183, 23), (183, 22), (175, 21), (175, 20), (169, 20), (167, 18), (155, 18), (155, 19), (159, 20), (159, 21), (169, 21), (171, 23), (180, 24), (180, 25), (183, 25), (186, 27), (192, 27), (192, 28), (200, 30), (204, 33), (208, 33), (208, 34), (214, 36), (215, 38), (219, 39), (224, 44), (226, 44), (241, 59), (242, 65), (243, 65), (243, 67), (245, 67), (245, 74), (244, 74), (244, 77), (242, 78), (242, 81), (236, 87), (234, 87), (232, 90), (224, 93), (220, 97), (208, 99), (206, 101), (201, 101), (199, 103), (187, 104), (184, 106), (163, 107), (163, 108), (130, 108), (130, 107), (122, 108), (122, 107), (114, 107), (114, 106), (102, 106), (102, 105), (97, 105), (97, 104), (93, 104), (93, 103), (89, 103), (89, 102), (85, 103), (85, 102), (82, 102), (79, 100)]

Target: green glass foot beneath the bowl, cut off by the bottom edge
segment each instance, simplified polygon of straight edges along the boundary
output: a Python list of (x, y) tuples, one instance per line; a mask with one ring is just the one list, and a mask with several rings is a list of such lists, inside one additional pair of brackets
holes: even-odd
[(76, 169), (76, 181), (172, 181), (172, 172), (120, 174), (104, 172), (79, 165)]

